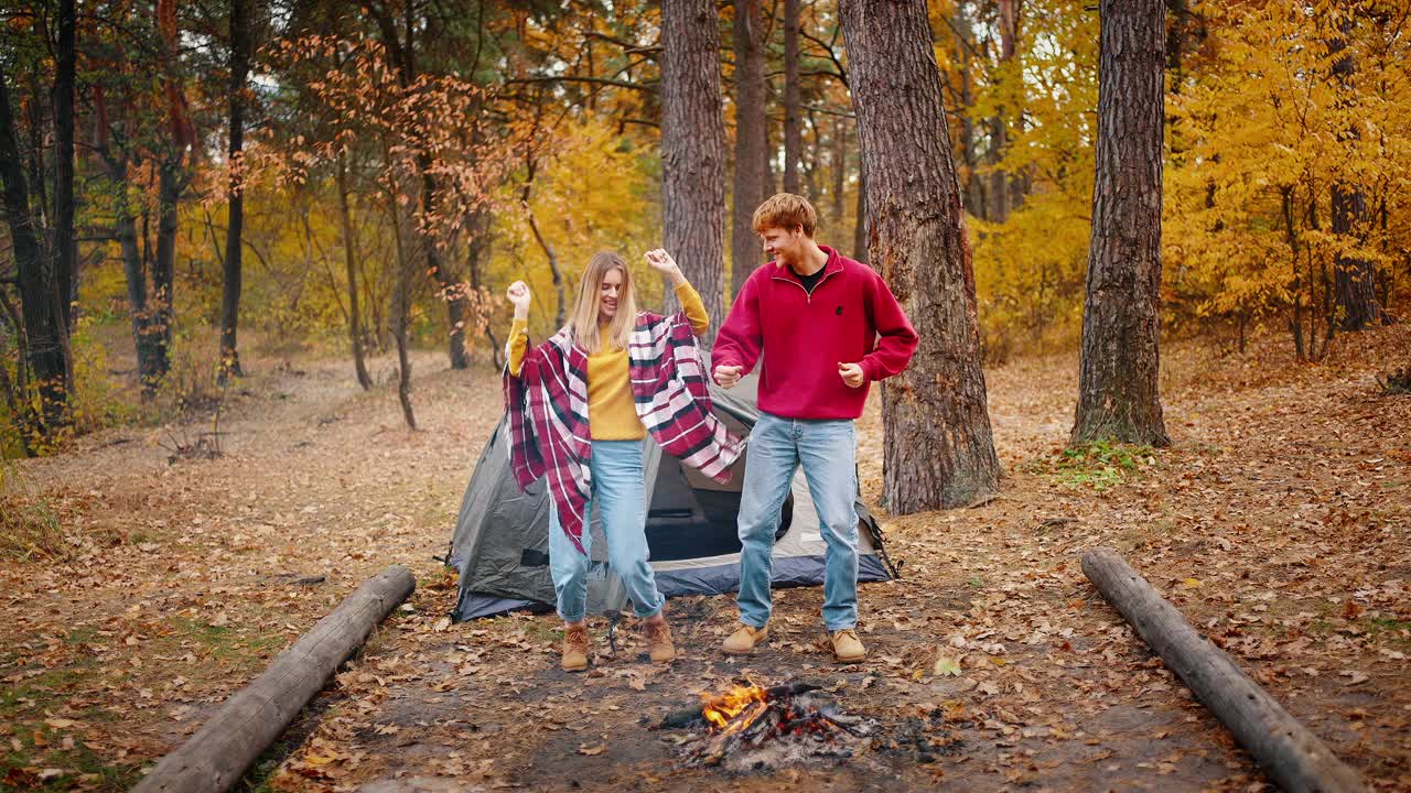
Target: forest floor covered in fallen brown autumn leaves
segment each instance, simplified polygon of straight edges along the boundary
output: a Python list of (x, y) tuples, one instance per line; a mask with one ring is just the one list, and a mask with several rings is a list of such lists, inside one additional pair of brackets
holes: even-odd
[[(172, 463), (158, 444), (207, 418), (11, 466), (11, 497), (51, 509), (69, 552), (0, 562), (0, 789), (128, 787), (392, 563), (418, 591), (241, 787), (1270, 787), (1084, 579), (1081, 553), (1106, 545), (1374, 789), (1408, 790), (1411, 395), (1374, 377), (1408, 351), (1405, 326), (1339, 337), (1318, 365), (1281, 336), (1246, 354), (1171, 344), (1174, 446), (1085, 456), (1061, 452), (1075, 356), (993, 368), (1002, 492), (880, 515), (906, 564), (861, 587), (865, 663), (831, 662), (821, 593), (799, 588), (777, 594), (772, 641), (745, 659), (717, 650), (731, 597), (682, 598), (674, 665), (648, 663), (631, 624), (608, 655), (594, 621), (600, 655), (573, 676), (552, 614), (444, 618), (456, 586), (433, 557), (501, 411), (494, 373), (420, 354), (423, 429), (408, 432), (395, 389), (358, 391), (343, 361), (251, 356), (216, 459)], [(873, 502), (880, 449), (873, 398), (858, 450)], [(727, 772), (683, 766), (687, 731), (648, 730), (744, 676), (825, 686), (882, 738), (848, 761)]]

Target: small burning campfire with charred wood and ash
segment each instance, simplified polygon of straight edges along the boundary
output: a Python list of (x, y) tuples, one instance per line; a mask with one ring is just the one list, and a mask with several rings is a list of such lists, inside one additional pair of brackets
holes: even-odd
[(684, 725), (680, 722), (691, 714), (707, 722), (707, 731), (680, 745), (686, 765), (732, 770), (851, 758), (866, 748), (875, 728), (871, 720), (841, 713), (807, 683), (772, 689), (751, 683), (718, 696), (703, 694), (698, 708), (669, 715), (663, 727)]

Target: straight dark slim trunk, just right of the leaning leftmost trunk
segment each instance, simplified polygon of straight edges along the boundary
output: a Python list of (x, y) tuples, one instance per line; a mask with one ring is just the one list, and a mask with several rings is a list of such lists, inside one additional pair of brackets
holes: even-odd
[[(73, 233), (73, 73), (78, 63), (73, 6), (75, 0), (59, 3), (58, 73), (54, 79), (54, 275), (65, 337), (73, 332), (73, 308), (79, 299), (79, 243)], [(72, 357), (66, 365), (72, 380)]]

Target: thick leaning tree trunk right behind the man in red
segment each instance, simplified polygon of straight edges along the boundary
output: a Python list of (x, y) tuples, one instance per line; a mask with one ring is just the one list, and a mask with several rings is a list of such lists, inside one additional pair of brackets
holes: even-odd
[(924, 0), (844, 0), (866, 169), (869, 261), (921, 337), (882, 385), (883, 487), (897, 514), (993, 492), (975, 275)]

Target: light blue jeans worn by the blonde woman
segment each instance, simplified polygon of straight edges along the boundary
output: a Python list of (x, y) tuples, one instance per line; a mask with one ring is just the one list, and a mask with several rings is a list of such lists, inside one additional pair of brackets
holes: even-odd
[[(646, 547), (646, 480), (642, 474), (641, 440), (594, 440), (593, 495), (584, 514), (591, 514), (597, 502), (602, 518), (602, 533), (608, 538), (608, 567), (617, 573), (632, 598), (632, 610), (641, 618), (662, 611), (665, 600), (656, 591), (656, 576), (648, 563)], [(593, 536), (583, 526), (583, 550), (591, 553)], [(559, 617), (564, 622), (583, 619), (588, 600), (588, 557), (573, 547), (563, 533), (559, 512), (550, 500), (549, 509), (549, 574), (559, 595)]]

